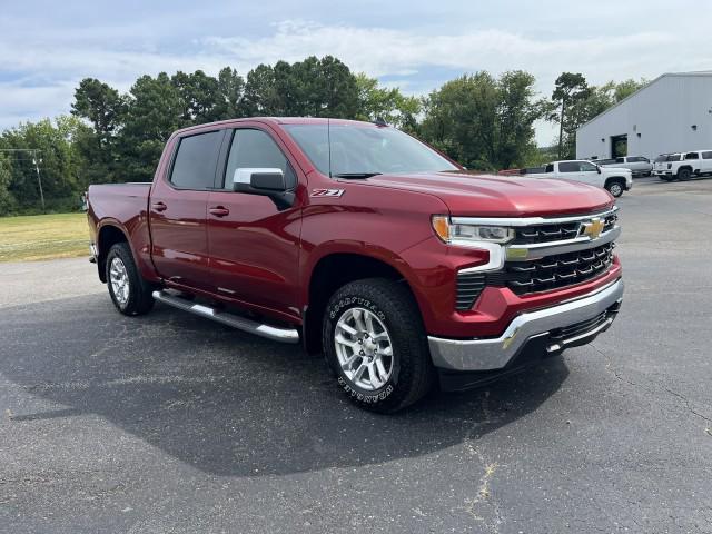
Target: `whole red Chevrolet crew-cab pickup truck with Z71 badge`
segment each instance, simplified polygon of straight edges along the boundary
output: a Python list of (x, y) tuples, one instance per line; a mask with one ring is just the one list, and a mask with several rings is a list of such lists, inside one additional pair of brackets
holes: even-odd
[(623, 296), (606, 191), (472, 176), (382, 122), (187, 128), (152, 184), (88, 198), (92, 259), (119, 312), (159, 300), (301, 342), (380, 412), (589, 343)]

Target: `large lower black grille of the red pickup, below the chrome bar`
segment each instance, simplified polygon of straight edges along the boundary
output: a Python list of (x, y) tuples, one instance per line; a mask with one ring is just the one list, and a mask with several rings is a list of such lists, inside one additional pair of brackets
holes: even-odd
[(602, 275), (613, 263), (613, 248), (609, 243), (576, 253), (547, 256), (532, 261), (507, 261), (504, 270), (487, 274), (487, 284), (506, 286), (517, 295), (547, 291)]

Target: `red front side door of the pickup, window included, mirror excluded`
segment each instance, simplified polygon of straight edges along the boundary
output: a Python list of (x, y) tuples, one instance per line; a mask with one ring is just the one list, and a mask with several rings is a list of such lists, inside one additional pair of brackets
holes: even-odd
[(296, 189), (295, 167), (276, 138), (257, 127), (235, 129), (226, 142), (225, 174), (210, 191), (207, 209), (214, 291), (238, 304), (299, 317), (299, 195), (293, 207), (279, 210), (268, 197), (233, 190), (239, 170), (254, 168), (281, 169)]

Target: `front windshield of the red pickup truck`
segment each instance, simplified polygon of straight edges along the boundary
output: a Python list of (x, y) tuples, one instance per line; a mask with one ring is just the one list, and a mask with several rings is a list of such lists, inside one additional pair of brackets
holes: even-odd
[(395, 128), (320, 123), (286, 125), (285, 129), (326, 176), (458, 170), (435, 150)]

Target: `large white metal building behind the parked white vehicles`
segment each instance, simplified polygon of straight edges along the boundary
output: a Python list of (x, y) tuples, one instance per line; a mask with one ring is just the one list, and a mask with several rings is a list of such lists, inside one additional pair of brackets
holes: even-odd
[(668, 73), (576, 130), (576, 158), (712, 149), (712, 71)]

